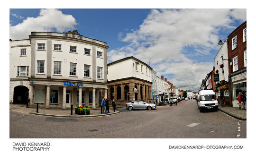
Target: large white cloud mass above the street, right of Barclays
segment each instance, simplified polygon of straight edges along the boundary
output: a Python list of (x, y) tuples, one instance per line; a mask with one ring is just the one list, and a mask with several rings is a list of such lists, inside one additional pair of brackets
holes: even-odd
[[(246, 9), (153, 9), (138, 30), (123, 34), (121, 40), (129, 45), (108, 52), (108, 60), (132, 55), (148, 62), (150, 57), (157, 76), (173, 74), (167, 79), (175, 86), (198, 90), (213, 59), (197, 62), (190, 55), (211, 55), (211, 50), (219, 49), (219, 31), (231, 31), (235, 27), (230, 24), (245, 16)], [(186, 53), (185, 47), (194, 51)]]

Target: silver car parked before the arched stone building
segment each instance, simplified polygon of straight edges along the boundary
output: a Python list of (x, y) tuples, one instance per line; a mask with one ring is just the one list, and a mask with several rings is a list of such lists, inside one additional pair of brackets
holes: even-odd
[(129, 110), (133, 110), (133, 109), (151, 110), (151, 109), (156, 109), (156, 105), (152, 103), (142, 102), (142, 101), (132, 101), (132, 102), (126, 103), (126, 108)]

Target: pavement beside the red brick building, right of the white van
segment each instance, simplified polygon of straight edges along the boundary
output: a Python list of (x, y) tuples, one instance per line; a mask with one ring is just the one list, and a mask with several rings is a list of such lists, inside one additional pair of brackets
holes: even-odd
[(230, 107), (230, 106), (219, 106), (219, 111), (222, 111), (231, 117), (234, 117), (239, 120), (246, 120), (246, 110), (240, 110), (238, 107)]

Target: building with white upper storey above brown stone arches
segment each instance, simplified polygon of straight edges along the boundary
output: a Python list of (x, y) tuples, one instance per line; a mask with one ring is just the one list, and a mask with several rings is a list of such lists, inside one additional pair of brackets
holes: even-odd
[(133, 100), (152, 103), (153, 68), (132, 56), (113, 61), (107, 67), (110, 101), (115, 100), (118, 106)]

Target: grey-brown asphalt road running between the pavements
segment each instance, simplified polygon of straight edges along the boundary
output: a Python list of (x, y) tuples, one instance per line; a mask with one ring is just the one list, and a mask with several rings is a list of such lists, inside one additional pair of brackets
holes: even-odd
[(200, 112), (195, 100), (156, 110), (118, 109), (91, 118), (57, 118), (10, 111), (10, 138), (246, 138), (246, 121)]

